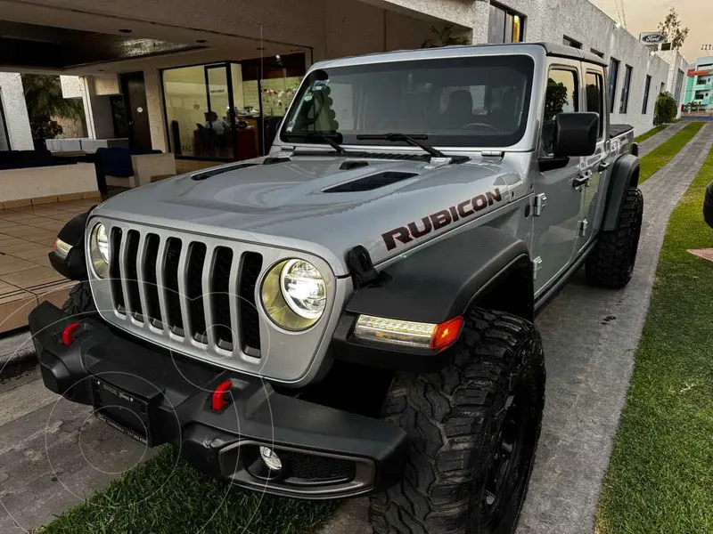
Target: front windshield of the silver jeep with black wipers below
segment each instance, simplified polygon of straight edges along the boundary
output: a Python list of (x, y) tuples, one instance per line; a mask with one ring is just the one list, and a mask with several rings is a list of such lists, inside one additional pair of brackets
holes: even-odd
[(524, 55), (317, 69), (300, 86), (280, 137), (391, 144), (356, 136), (427, 134), (430, 145), (510, 146), (525, 133), (533, 69)]

